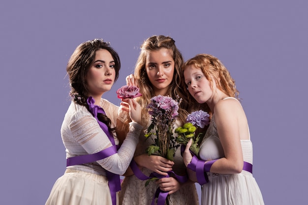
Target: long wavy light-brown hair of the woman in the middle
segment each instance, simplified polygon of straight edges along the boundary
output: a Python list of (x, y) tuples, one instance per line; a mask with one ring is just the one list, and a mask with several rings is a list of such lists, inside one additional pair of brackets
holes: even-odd
[[(142, 107), (142, 120), (145, 123), (144, 125), (147, 125), (149, 122), (149, 114), (146, 107), (150, 103), (151, 98), (155, 96), (152, 84), (146, 72), (146, 59), (151, 51), (158, 51), (161, 48), (170, 50), (170, 55), (175, 62), (173, 80), (169, 86), (167, 95), (173, 99), (176, 99), (177, 95), (182, 98), (182, 102), (179, 106), (178, 119), (181, 123), (185, 123), (187, 114), (190, 110), (192, 110), (192, 106), (189, 106), (188, 104), (187, 95), (185, 94), (185, 87), (181, 86), (182, 81), (184, 81), (184, 79), (181, 78), (184, 60), (181, 52), (175, 45), (175, 40), (169, 36), (154, 35), (146, 39), (140, 48), (141, 51), (135, 65), (134, 78), (138, 81), (140, 92), (142, 93), (142, 96), (136, 98), (136, 101)], [(127, 121), (125, 121), (124, 124), (127, 124)]]

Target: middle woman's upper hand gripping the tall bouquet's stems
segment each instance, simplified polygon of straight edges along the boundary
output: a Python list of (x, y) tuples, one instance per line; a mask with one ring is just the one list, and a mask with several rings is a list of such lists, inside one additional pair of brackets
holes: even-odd
[(139, 166), (145, 167), (152, 172), (155, 172), (162, 176), (167, 176), (166, 172), (172, 170), (174, 165), (173, 161), (170, 161), (164, 157), (158, 155), (143, 154), (134, 158)]

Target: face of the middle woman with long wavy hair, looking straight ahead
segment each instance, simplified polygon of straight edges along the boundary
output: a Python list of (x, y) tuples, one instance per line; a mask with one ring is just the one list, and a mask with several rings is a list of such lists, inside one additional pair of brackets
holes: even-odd
[(173, 80), (174, 60), (170, 49), (151, 51), (146, 58), (146, 72), (155, 95), (166, 95)]

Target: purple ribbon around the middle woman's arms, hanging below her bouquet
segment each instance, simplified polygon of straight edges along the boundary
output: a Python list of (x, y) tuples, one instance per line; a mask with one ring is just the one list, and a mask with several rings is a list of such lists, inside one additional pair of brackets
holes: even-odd
[[(164, 178), (164, 177), (170, 177), (171, 174), (173, 174), (175, 176), (175, 178), (181, 182), (181, 183), (185, 183), (188, 179), (188, 177), (185, 175), (185, 176), (179, 176), (177, 174), (175, 174), (173, 171), (170, 171), (170, 172), (167, 172), (167, 176), (163, 176), (163, 175), (159, 175), (155, 172), (151, 173), (150, 176), (146, 176), (144, 175), (141, 170), (138, 168), (136, 162), (134, 159), (131, 160), (130, 162), (130, 168), (132, 169), (132, 171), (134, 172), (134, 175), (140, 179), (140, 180), (147, 180), (147, 179), (150, 179), (150, 178), (153, 178), (153, 177), (157, 177), (157, 178)], [(159, 189), (159, 187), (156, 189), (156, 192), (155, 192), (155, 195), (153, 197), (153, 200), (152, 200), (152, 204), (151, 205), (154, 205), (155, 204), (155, 198), (157, 198), (157, 205), (164, 205), (165, 204), (165, 201), (167, 199), (167, 196), (168, 196), (168, 192), (164, 192), (164, 191), (161, 191)]]

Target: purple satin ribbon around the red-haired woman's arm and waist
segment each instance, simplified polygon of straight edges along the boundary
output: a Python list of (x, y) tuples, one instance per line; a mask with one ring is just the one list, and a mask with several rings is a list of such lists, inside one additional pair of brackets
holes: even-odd
[[(192, 154), (192, 159), (191, 162), (187, 165), (187, 168), (196, 172), (198, 183), (200, 185), (204, 185), (209, 182), (209, 178), (206, 173), (210, 172), (212, 165), (218, 159), (207, 161), (207, 163), (205, 163), (206, 161), (198, 159), (193, 153), (191, 154)], [(252, 174), (252, 164), (244, 161), (243, 170), (250, 172)]]

